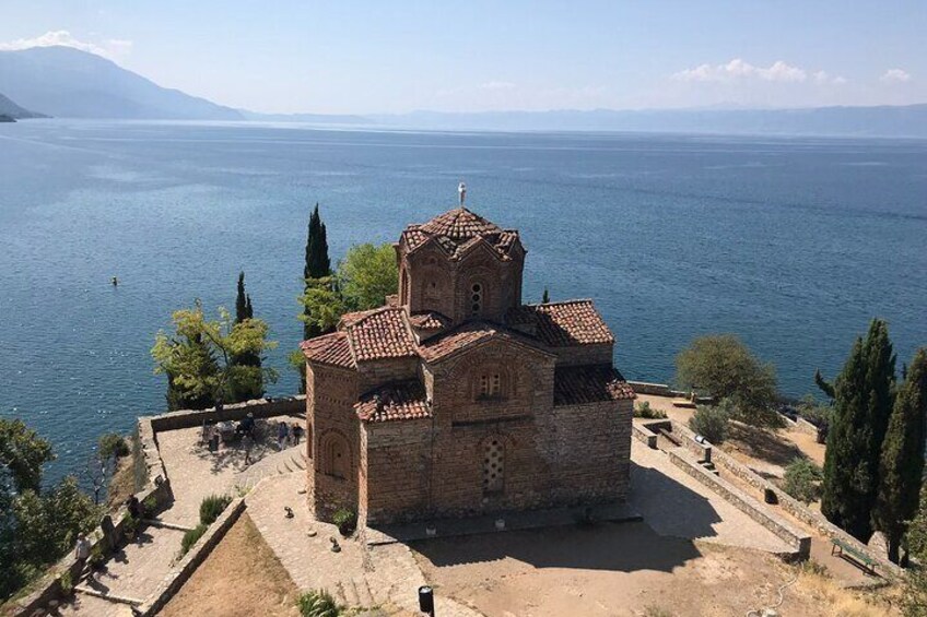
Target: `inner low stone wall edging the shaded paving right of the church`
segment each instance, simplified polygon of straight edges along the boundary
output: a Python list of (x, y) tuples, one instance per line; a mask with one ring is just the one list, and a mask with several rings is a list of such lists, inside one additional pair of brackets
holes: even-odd
[(684, 448), (673, 448), (668, 450), (667, 454), (677, 467), (724, 497), (735, 508), (789, 545), (791, 551), (783, 554), (783, 557), (805, 560), (811, 555), (810, 535), (795, 529), (787, 521), (771, 512), (768, 508), (690, 459)]

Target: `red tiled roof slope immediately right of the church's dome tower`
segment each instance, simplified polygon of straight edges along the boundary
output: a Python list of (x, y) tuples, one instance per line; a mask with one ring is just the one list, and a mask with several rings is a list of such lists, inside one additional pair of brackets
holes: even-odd
[(535, 327), (537, 336), (551, 347), (614, 343), (592, 300), (525, 305), (509, 310), (505, 321)]

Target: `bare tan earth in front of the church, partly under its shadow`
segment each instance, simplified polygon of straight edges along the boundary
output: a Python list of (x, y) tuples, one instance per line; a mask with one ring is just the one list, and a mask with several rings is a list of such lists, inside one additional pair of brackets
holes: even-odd
[(421, 543), (436, 592), (488, 617), (727, 616), (775, 605), (789, 617), (895, 615), (878, 597), (761, 551), (657, 535), (644, 523)]

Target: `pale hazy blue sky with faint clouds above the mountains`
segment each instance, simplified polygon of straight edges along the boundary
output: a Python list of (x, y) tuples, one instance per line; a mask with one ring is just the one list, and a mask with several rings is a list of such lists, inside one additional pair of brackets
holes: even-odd
[(3, 0), (67, 44), (256, 111), (927, 102), (927, 0)]

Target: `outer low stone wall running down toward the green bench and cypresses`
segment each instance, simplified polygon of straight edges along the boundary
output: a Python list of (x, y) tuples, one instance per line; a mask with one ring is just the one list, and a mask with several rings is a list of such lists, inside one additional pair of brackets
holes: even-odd
[[(683, 426), (678, 422), (672, 423), (672, 430), (684, 439), (693, 439), (695, 437), (695, 434), (692, 432), (689, 427)], [(810, 525), (824, 537), (840, 539), (841, 542), (848, 544), (859, 553), (871, 558), (879, 565), (881, 570), (880, 573), (883, 577), (894, 580), (903, 579), (905, 577), (904, 569), (889, 561), (887, 557), (873, 553), (869, 549), (868, 546), (866, 546), (865, 544), (863, 544), (838, 526), (834, 525), (828, 519), (825, 519), (823, 514), (811, 510), (797, 499), (793, 498), (790, 495), (788, 495), (775, 484), (771, 483), (765, 478), (760, 477), (747, 465), (744, 465), (740, 461), (737, 461), (724, 450), (718, 448), (715, 449), (714, 463), (718, 466), (724, 467), (728, 473), (736, 475), (738, 478), (748, 483), (750, 486), (762, 491), (768, 490), (775, 494), (776, 499), (778, 500), (778, 506), (783, 510), (785, 510), (802, 523)]]

